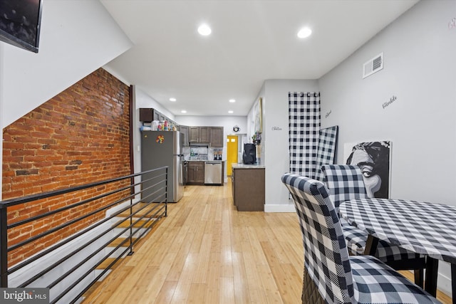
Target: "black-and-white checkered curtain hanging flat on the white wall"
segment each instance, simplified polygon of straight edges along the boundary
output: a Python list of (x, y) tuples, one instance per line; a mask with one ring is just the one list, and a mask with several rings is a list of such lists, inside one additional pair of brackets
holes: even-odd
[(290, 173), (315, 178), (320, 93), (291, 93), (289, 98)]

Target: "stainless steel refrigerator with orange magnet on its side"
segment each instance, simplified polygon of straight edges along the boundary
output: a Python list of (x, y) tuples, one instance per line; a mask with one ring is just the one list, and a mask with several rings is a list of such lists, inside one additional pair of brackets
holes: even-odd
[[(167, 199), (177, 202), (184, 195), (184, 135), (178, 131), (142, 131), (141, 171), (168, 166)], [(145, 189), (147, 184), (142, 185)], [(155, 189), (146, 189), (142, 198), (152, 196)], [(146, 201), (149, 201), (145, 199)]]

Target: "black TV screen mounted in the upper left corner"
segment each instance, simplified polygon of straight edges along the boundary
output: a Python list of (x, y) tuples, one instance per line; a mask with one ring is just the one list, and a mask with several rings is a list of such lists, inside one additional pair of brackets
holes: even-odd
[(43, 0), (0, 0), (0, 41), (38, 53)]

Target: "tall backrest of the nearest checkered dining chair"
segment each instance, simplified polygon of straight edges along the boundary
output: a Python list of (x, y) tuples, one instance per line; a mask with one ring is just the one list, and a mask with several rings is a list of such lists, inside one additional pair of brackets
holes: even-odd
[(348, 251), (326, 187), (296, 174), (285, 174), (282, 182), (289, 189), (298, 214), (307, 273), (323, 299), (351, 303), (354, 292)]

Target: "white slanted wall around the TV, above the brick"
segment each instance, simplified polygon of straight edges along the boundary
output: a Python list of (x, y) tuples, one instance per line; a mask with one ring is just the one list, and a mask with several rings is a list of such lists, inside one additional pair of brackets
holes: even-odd
[(132, 46), (99, 1), (78, 0), (43, 1), (38, 53), (0, 43), (4, 45), (1, 127)]

